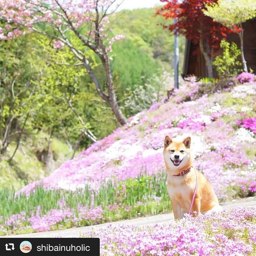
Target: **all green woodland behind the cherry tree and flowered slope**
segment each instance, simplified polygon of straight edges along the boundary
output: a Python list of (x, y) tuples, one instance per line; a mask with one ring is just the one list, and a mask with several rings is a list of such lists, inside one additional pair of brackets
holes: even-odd
[[(159, 93), (165, 91), (165, 81), (170, 81), (163, 80), (164, 71), (170, 76), (173, 73), (174, 39), (161, 25), (172, 21), (154, 14), (155, 9), (124, 10), (110, 18), (113, 36), (125, 36), (114, 42), (109, 54), (116, 94), (126, 117), (158, 101)], [(0, 22), (1, 27), (7, 24)], [(0, 153), (1, 186), (20, 188), (70, 159), (76, 145), (76, 154), (86, 149), (92, 142), (81, 136), (84, 124), (78, 116), (97, 139), (106, 137), (118, 125), (86, 71), (72, 66), (72, 53), (66, 47), (54, 49), (53, 43), (37, 33), (0, 41), (1, 142), (8, 120), (15, 113), (8, 147)], [(182, 37), (179, 43), (182, 59)], [(104, 87), (102, 65), (92, 53), (88, 54), (94, 59), (94, 72)], [(76, 113), (68, 105), (67, 97), (72, 99)], [(15, 135), (17, 129), (23, 129), (20, 138)]]

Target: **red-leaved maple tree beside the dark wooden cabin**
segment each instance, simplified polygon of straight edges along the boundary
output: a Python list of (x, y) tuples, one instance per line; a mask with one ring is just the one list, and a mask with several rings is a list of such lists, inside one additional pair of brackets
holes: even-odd
[(157, 14), (165, 19), (177, 18), (176, 24), (164, 26), (174, 33), (185, 35), (188, 40), (199, 44), (200, 50), (205, 58), (208, 77), (213, 77), (213, 55), (214, 50), (220, 47), (220, 41), (226, 39), (231, 29), (214, 22), (211, 17), (205, 16), (203, 11), (205, 5), (216, 3), (218, 0), (160, 0), (167, 2)]

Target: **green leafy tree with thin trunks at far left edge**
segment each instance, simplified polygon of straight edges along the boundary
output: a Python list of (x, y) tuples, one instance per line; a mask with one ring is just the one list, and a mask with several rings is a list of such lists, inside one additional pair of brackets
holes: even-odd
[(38, 56), (31, 56), (31, 37), (0, 42), (0, 153), (16, 141), (13, 158), (29, 118), (35, 115), (48, 96), (42, 87), (43, 67)]

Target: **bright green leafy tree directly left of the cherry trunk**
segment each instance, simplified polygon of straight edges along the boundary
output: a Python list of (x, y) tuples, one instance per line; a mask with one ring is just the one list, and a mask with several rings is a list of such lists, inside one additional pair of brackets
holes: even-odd
[[(75, 149), (107, 136), (118, 125), (116, 119), (108, 104), (97, 97), (92, 80), (84, 75), (80, 65), (76, 65), (73, 54), (65, 47), (56, 51), (52, 41), (44, 36), (37, 39), (36, 45), (44, 50), (40, 65), (46, 67), (43, 83), (51, 101), (36, 117), (35, 128), (40, 127), (48, 133), (53, 131)], [(99, 72), (101, 66), (93, 51), (88, 51), (86, 58), (95, 73)], [(104, 76), (101, 79), (104, 81)], [(114, 79), (113, 83), (116, 87)], [(102, 127), (99, 123), (108, 125)]]

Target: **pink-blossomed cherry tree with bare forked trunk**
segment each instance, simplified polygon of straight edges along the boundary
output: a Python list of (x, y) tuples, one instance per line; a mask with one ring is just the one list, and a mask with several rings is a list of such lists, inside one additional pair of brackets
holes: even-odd
[[(111, 38), (109, 35), (108, 17), (119, 5), (116, 0), (0, 0), (0, 19), (7, 22), (0, 27), (0, 39), (14, 39), (34, 31), (52, 38), (56, 49), (67, 46), (77, 59), (76, 65), (86, 69), (98, 95), (111, 106), (116, 119), (123, 125), (127, 119), (114, 92), (109, 56), (113, 42), (124, 37)], [(104, 67), (105, 85), (100, 85), (95, 75), (89, 51), (99, 57)]]

